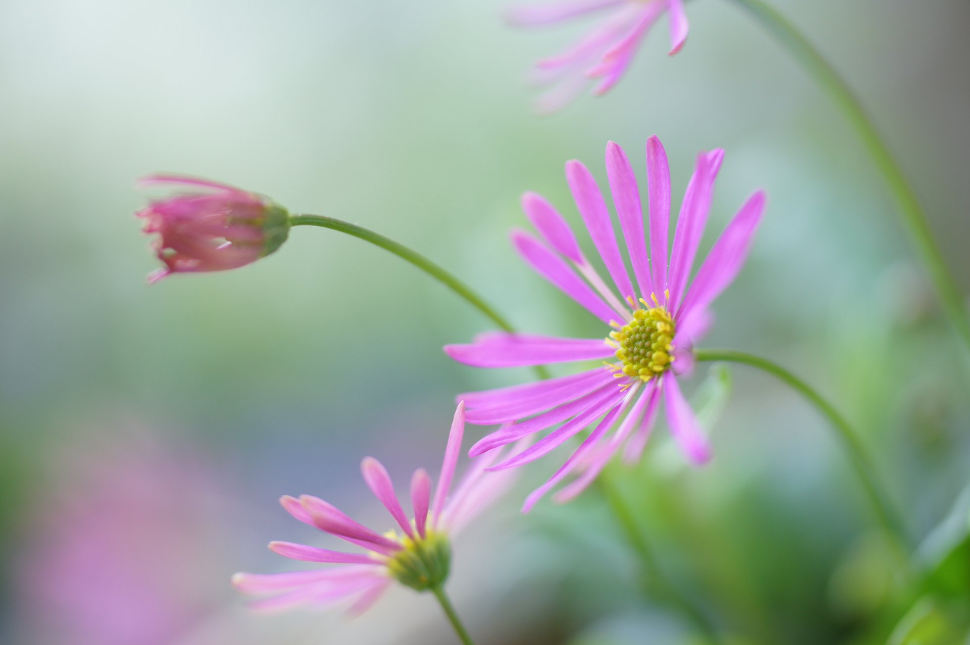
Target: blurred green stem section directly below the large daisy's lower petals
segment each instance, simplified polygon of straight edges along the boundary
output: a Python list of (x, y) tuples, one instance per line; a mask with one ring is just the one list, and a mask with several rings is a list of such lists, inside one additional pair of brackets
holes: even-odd
[(719, 642), (717, 631), (711, 625), (707, 616), (690, 599), (681, 594), (664, 575), (663, 569), (654, 556), (650, 540), (634, 519), (620, 488), (605, 472), (598, 476), (597, 483), (646, 573), (645, 591), (679, 611), (695, 630), (709, 642)]

